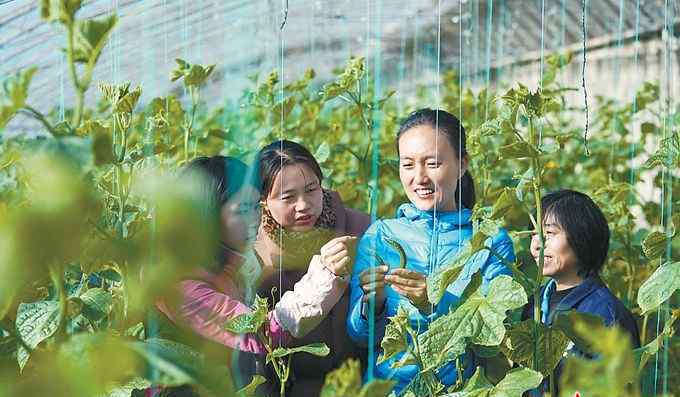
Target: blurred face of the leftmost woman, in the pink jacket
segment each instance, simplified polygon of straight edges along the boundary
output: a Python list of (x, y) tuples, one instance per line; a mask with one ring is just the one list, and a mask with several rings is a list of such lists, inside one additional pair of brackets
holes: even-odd
[(222, 219), (222, 242), (243, 252), (257, 237), (260, 225), (259, 192), (250, 185), (244, 185), (227, 201), (220, 213)]

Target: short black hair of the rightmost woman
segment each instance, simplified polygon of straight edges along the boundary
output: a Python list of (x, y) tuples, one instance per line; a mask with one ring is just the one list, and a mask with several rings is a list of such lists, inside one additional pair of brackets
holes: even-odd
[(552, 217), (566, 233), (578, 259), (578, 275), (596, 276), (609, 251), (609, 225), (600, 207), (586, 194), (558, 190), (541, 199), (542, 217)]

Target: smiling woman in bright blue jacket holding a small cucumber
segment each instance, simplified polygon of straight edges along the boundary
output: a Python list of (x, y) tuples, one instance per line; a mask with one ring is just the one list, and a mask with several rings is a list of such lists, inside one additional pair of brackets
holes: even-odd
[[(411, 113), (397, 134), (399, 178), (409, 203), (402, 204), (396, 218), (373, 223), (361, 238), (350, 282), (347, 316), (349, 336), (359, 345), (375, 349), (369, 357), (368, 377), (397, 381), (403, 390), (418, 373), (414, 365), (393, 369), (401, 354), (375, 364), (382, 353), (380, 342), (386, 318), (399, 306), (409, 313), (411, 326), (424, 332), (428, 324), (455, 307), (472, 275), (479, 270), (484, 287), (491, 279), (510, 271), (500, 258), (484, 250), (468, 261), (458, 279), (449, 286), (437, 305), (427, 300), (426, 277), (451, 262), (472, 237), (474, 183), (468, 172), (465, 130), (458, 119), (443, 110), (421, 109)], [(405, 267), (399, 268), (399, 253), (388, 240), (401, 244)], [(514, 261), (512, 242), (505, 231), (492, 239), (492, 248)], [(375, 254), (389, 266), (376, 266)], [(369, 313), (369, 298), (375, 297), (375, 312)], [(369, 340), (373, 320), (374, 333)], [(439, 371), (444, 385), (456, 382), (454, 363)]]

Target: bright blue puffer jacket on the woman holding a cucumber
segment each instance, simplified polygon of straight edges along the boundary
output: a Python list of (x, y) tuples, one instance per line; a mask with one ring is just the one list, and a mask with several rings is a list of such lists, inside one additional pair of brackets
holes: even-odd
[[(428, 324), (443, 314), (447, 314), (455, 307), (463, 290), (470, 282), (470, 278), (480, 270), (482, 287), (501, 274), (510, 274), (510, 270), (503, 265), (500, 258), (489, 255), (488, 250), (475, 254), (466, 263), (458, 279), (451, 284), (444, 297), (435, 306), (431, 314), (421, 313), (411, 302), (397, 294), (389, 286), (385, 287), (385, 308), (383, 313), (375, 317), (375, 339), (369, 343), (368, 319), (362, 315), (363, 290), (359, 285), (359, 274), (371, 266), (375, 266), (373, 253), (377, 253), (390, 266), (398, 266), (399, 254), (389, 246), (383, 237), (398, 241), (406, 252), (406, 268), (429, 275), (431, 270), (451, 262), (472, 237), (472, 211), (462, 209), (455, 212), (437, 212), (435, 219), (433, 212), (421, 211), (413, 204), (402, 204), (394, 219), (379, 220), (373, 223), (359, 241), (357, 259), (350, 281), (350, 303), (347, 315), (347, 333), (359, 345), (375, 347), (375, 360), (382, 353), (380, 341), (385, 334), (386, 317), (394, 316), (397, 308), (403, 306), (409, 312), (411, 326), (424, 332)], [(509, 261), (515, 260), (512, 241), (505, 231), (501, 231), (491, 240), (492, 248)], [(366, 311), (364, 311), (366, 313)], [(395, 390), (401, 391), (418, 373), (418, 368), (409, 365), (392, 369), (390, 365), (401, 358), (397, 354), (391, 359), (375, 365), (373, 375), (377, 378), (397, 381)], [(372, 365), (369, 362), (369, 365)], [(369, 368), (370, 371), (370, 368)], [(447, 364), (438, 373), (440, 381), (445, 385), (456, 382), (456, 370), (452, 363)]]

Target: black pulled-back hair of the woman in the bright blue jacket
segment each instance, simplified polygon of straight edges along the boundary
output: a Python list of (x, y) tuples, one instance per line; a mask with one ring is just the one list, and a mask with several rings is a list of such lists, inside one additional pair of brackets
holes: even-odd
[[(397, 132), (397, 154), (399, 153), (399, 138), (401, 135), (411, 128), (423, 125), (428, 125), (444, 134), (459, 159), (467, 156), (467, 150), (465, 149), (465, 128), (463, 128), (458, 118), (445, 110), (429, 108), (416, 110), (401, 122)], [(472, 209), (475, 206), (475, 182), (469, 171), (465, 171), (458, 180), (454, 197), (456, 208), (458, 209), (462, 207)]]

